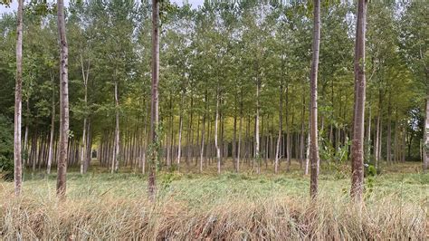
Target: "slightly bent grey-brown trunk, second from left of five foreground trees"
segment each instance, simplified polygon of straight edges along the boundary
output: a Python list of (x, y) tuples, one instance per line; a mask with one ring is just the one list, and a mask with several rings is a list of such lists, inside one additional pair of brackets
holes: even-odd
[(69, 47), (65, 33), (63, 0), (57, 0), (57, 17), (58, 33), (60, 35), (60, 157), (57, 167), (57, 196), (65, 198), (67, 146), (69, 140)]

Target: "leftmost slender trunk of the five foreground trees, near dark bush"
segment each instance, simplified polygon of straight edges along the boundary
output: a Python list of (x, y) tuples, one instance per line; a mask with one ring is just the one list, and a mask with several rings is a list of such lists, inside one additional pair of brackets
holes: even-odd
[(14, 89), (14, 194), (21, 195), (23, 186), (23, 155), (21, 147), (21, 121), (23, 118), (23, 8), (18, 0), (16, 15), (16, 83)]

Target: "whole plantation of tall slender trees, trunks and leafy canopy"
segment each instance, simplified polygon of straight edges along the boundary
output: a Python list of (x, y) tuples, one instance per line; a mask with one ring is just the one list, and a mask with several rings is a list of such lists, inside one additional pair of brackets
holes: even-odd
[(0, 18), (17, 194), (21, 163), (57, 167), (61, 196), (67, 166), (133, 169), (153, 198), (158, 169), (298, 161), (315, 197), (319, 159), (351, 159), (361, 199), (364, 162), (429, 168), (424, 1), (18, 2)]

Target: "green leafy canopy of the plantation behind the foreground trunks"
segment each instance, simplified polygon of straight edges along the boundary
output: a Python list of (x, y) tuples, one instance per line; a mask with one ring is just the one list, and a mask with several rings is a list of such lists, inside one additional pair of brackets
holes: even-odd
[[(25, 4), (23, 126), (29, 126), (31, 140), (36, 129), (49, 130), (52, 108), (58, 108), (59, 54), (55, 5), (47, 1)], [(179, 116), (183, 120), (182, 145), (201, 137), (202, 119), (205, 119), (205, 138), (210, 139), (205, 143), (212, 145), (214, 135), (208, 128), (213, 128), (215, 121), (216, 96), (224, 124), (219, 131), (221, 141), (231, 144), (234, 117), (243, 120), (242, 143), (254, 141), (256, 83), (261, 86), (262, 140), (277, 136), (281, 97), (282, 131), (289, 131), (293, 137), (302, 129), (306, 135), (311, 9), (311, 3), (213, 2), (193, 8), (160, 1), (159, 120), (166, 130), (159, 135), (157, 146), (149, 149), (163, 149), (167, 142), (178, 143)], [(327, 136), (333, 131), (332, 140), (338, 142), (337, 139), (343, 141), (352, 132), (356, 23), (350, 16), (355, 11), (356, 5), (348, 1), (326, 2), (321, 9), (320, 157), (329, 162), (325, 166), (334, 170), (337, 178), (349, 175), (346, 167), (349, 143), (346, 141), (337, 149)], [(423, 98), (427, 95), (424, 63), (429, 63), (425, 12), (427, 5), (405, 1), (368, 5), (367, 14), (367, 105), (371, 107), (371, 130), (375, 132), (379, 116), (383, 130), (391, 121), (392, 134), (397, 134), (398, 140), (403, 140), (406, 131), (410, 159), (419, 157), (424, 133)], [(118, 112), (121, 149), (132, 140), (129, 133), (137, 133), (142, 140), (138, 145), (146, 145), (143, 136), (148, 133), (151, 96), (150, 3), (71, 1), (66, 14), (71, 140), (81, 140), (82, 120), (87, 118), (91, 119), (94, 144), (109, 142)], [(0, 112), (9, 119), (14, 112), (14, 92), (10, 91), (14, 88), (15, 74), (14, 18), (14, 14), (0, 17), (0, 80), (5, 87), (0, 90)], [(87, 85), (83, 81), (85, 74), (89, 76)], [(114, 101), (115, 84), (119, 89), (119, 106)], [(84, 101), (85, 86), (89, 93), (87, 101)], [(367, 125), (367, 115), (365, 119)], [(57, 117), (54, 120), (58, 126)], [(36, 134), (42, 137), (46, 133)], [(374, 140), (366, 143), (371, 145)], [(385, 147), (383, 153), (384, 150)], [(374, 161), (370, 152), (366, 148), (366, 163)], [(160, 169), (164, 153), (157, 153), (157, 169)], [(271, 150), (263, 146), (259, 157), (247, 155), (262, 166), (261, 158), (267, 153)], [(120, 156), (125, 157), (122, 153)]]

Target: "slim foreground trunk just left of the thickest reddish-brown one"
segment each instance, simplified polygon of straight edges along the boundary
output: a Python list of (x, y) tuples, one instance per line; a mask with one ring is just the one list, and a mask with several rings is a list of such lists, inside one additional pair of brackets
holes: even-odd
[(311, 62), (311, 108), (310, 108), (310, 196), (318, 194), (319, 178), (319, 131), (318, 131), (318, 68), (320, 45), (320, 0), (314, 0), (313, 58)]

